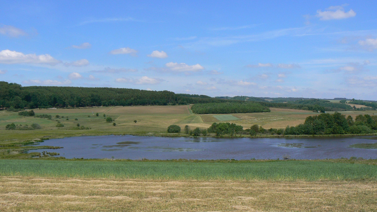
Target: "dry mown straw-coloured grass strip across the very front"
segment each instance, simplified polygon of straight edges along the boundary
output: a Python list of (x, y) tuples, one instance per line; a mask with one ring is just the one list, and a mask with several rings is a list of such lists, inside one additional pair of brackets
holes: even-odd
[(198, 181), (0, 177), (0, 211), (377, 210), (371, 181)]

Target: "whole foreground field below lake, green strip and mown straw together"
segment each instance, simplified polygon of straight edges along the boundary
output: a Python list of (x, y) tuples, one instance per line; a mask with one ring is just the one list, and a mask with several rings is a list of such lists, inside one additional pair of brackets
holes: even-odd
[(230, 162), (0, 160), (0, 211), (377, 209), (375, 161)]

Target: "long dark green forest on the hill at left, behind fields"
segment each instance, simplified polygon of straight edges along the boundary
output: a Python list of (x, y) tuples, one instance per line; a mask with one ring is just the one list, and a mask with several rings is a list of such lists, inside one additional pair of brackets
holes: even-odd
[(205, 95), (175, 94), (126, 88), (21, 86), (0, 81), (0, 108), (69, 108), (93, 106), (176, 105), (213, 103), (221, 100)]

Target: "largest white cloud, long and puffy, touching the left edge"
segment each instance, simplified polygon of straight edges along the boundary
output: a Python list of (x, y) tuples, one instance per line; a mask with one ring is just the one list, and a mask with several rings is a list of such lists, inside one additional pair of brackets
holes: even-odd
[(0, 52), (0, 63), (35, 63), (56, 65), (61, 61), (51, 57), (49, 54), (23, 54), (22, 52), (10, 51), (9, 49)]

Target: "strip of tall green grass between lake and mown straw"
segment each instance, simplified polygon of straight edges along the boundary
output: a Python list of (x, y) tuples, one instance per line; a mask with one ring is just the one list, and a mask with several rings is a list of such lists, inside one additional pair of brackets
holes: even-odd
[(0, 175), (177, 180), (377, 180), (377, 166), (324, 161), (193, 163), (0, 160)]

